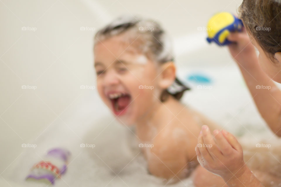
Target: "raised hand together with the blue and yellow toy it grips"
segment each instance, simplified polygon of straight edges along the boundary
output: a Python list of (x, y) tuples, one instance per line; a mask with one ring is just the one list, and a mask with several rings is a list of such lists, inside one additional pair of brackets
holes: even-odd
[(235, 15), (228, 12), (217, 13), (210, 18), (207, 28), (207, 41), (220, 46), (228, 45), (232, 57), (239, 66), (256, 65), (258, 60), (255, 48), (242, 21)]

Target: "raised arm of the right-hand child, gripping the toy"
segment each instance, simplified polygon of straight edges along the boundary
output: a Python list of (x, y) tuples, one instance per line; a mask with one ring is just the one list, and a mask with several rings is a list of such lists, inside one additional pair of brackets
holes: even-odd
[(229, 45), (229, 51), (241, 70), (261, 116), (272, 131), (281, 136), (281, 91), (261, 69), (245, 28), (241, 33), (232, 33), (228, 39), (235, 42)]

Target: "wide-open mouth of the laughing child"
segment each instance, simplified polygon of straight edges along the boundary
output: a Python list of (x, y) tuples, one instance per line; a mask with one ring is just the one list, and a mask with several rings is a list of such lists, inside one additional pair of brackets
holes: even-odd
[(112, 103), (115, 115), (123, 115), (131, 101), (131, 96), (127, 93), (111, 93), (109, 99)]

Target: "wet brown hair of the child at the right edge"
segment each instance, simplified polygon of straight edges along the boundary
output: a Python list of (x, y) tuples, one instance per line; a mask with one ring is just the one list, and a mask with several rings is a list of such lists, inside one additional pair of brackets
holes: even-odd
[(281, 52), (281, 0), (243, 0), (239, 18), (263, 51), (274, 61)]

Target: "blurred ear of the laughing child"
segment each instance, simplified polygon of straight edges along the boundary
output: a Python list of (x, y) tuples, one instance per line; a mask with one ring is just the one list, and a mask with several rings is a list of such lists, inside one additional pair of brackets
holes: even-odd
[(166, 62), (161, 65), (159, 86), (167, 89), (171, 86), (176, 78), (176, 67), (173, 62)]

